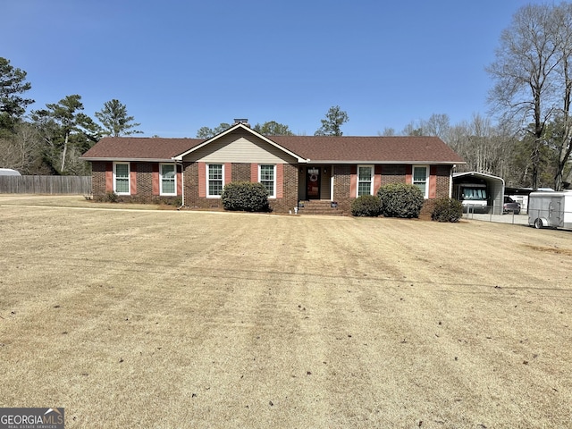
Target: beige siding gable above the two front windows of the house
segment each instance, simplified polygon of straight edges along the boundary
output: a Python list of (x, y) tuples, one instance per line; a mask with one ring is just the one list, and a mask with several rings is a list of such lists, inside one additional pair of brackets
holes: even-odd
[(185, 162), (296, 164), (297, 160), (250, 133), (237, 130), (184, 156)]

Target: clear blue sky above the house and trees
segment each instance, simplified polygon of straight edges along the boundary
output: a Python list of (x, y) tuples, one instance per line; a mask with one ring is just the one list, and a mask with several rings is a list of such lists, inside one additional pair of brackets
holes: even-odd
[[(112, 98), (145, 136), (195, 137), (233, 118), (344, 135), (487, 114), (484, 68), (523, 0), (4, 0), (0, 56), (39, 109)], [(533, 2), (534, 3), (534, 2)], [(538, 2), (536, 2), (538, 3)]]

